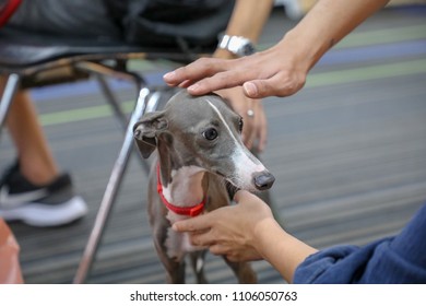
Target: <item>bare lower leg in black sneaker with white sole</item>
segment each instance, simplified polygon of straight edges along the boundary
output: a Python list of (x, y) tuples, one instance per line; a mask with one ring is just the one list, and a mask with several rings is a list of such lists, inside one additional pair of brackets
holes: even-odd
[[(0, 78), (0, 94), (4, 80)], [(27, 92), (19, 91), (7, 118), (17, 161), (0, 177), (0, 217), (34, 226), (58, 226), (87, 212), (71, 177), (58, 172), (37, 111)]]

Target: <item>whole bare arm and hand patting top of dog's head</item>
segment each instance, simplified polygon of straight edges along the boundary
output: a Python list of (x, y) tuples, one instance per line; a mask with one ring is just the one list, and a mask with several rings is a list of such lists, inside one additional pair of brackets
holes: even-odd
[(292, 95), (324, 52), (388, 2), (319, 0), (272, 48), (230, 61), (200, 59), (164, 79), (194, 95), (237, 85), (251, 98)]

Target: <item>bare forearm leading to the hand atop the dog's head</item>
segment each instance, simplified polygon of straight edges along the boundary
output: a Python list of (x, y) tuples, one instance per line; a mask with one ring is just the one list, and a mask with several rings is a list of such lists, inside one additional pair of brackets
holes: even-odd
[(319, 0), (280, 44), (293, 46), (307, 60), (309, 70), (331, 47), (388, 2)]

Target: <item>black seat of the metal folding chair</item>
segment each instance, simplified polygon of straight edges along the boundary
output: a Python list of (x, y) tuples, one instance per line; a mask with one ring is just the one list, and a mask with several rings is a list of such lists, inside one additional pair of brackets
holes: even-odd
[(185, 52), (178, 47), (145, 47), (129, 45), (119, 40), (102, 40), (84, 37), (62, 37), (21, 33), (14, 30), (0, 31), (0, 72), (34, 67), (62, 58), (75, 60), (104, 60), (129, 58), (129, 55), (143, 54), (143, 58), (169, 59), (188, 62), (193, 54), (209, 54), (211, 48)]

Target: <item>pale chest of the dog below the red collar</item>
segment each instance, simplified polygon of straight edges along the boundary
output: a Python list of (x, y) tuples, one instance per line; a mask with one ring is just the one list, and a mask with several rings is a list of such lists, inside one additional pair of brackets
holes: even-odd
[[(188, 219), (188, 216), (178, 215), (170, 211), (167, 213), (166, 217), (170, 221), (170, 224), (174, 224), (176, 221)], [(171, 229), (171, 227), (167, 228), (165, 246), (168, 257), (175, 258), (177, 261), (182, 260), (187, 252), (203, 249), (202, 247), (196, 247), (190, 243), (188, 233), (177, 233)]]

